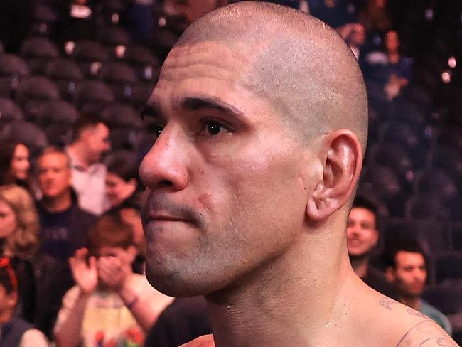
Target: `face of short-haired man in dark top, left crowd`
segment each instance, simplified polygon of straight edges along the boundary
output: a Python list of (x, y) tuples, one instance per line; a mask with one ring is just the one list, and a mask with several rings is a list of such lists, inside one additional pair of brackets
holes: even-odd
[(37, 164), (37, 181), (45, 198), (56, 198), (70, 189), (68, 158), (62, 153), (41, 156)]

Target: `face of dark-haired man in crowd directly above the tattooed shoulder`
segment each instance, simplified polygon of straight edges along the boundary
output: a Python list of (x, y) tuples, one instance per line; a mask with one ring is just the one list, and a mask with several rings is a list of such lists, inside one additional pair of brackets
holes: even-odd
[(420, 297), (426, 282), (425, 258), (420, 253), (399, 251), (395, 255), (394, 283), (407, 297)]

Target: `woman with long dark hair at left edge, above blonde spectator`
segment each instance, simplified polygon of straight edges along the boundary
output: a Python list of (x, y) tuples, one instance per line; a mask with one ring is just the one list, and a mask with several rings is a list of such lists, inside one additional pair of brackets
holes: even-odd
[(29, 149), (21, 142), (2, 142), (0, 144), (0, 185), (17, 184), (29, 189)]

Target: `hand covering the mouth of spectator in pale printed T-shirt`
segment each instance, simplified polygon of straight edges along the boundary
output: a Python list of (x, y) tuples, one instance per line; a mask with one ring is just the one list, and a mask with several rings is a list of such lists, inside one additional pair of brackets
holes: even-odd
[(117, 257), (112, 256), (100, 257), (97, 270), (101, 281), (114, 292), (119, 292), (124, 287), (130, 272), (128, 265), (123, 265)]

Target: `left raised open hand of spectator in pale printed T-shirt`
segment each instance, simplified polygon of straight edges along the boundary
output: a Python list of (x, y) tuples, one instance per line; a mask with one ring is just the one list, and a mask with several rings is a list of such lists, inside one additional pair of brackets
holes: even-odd
[(69, 259), (72, 277), (84, 294), (93, 292), (98, 284), (97, 260), (90, 257), (87, 263), (88, 250), (80, 248), (75, 255)]

